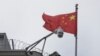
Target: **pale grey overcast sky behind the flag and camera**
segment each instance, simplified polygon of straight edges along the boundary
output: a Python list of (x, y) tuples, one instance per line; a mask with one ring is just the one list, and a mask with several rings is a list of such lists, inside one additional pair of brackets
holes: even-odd
[[(49, 15), (73, 12), (76, 3), (79, 4), (78, 56), (100, 56), (99, 0), (0, 0), (0, 32), (6, 32), (9, 39), (32, 44), (50, 33), (43, 28), (43, 12)], [(74, 56), (74, 36), (52, 35), (47, 39), (45, 51)]]

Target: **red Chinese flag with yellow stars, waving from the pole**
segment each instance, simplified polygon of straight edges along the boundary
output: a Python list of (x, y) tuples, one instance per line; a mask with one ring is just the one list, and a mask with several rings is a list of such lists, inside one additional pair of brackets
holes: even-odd
[(61, 27), (64, 32), (77, 34), (76, 12), (55, 16), (43, 14), (42, 18), (45, 21), (44, 28), (49, 31), (54, 31), (58, 27)]

